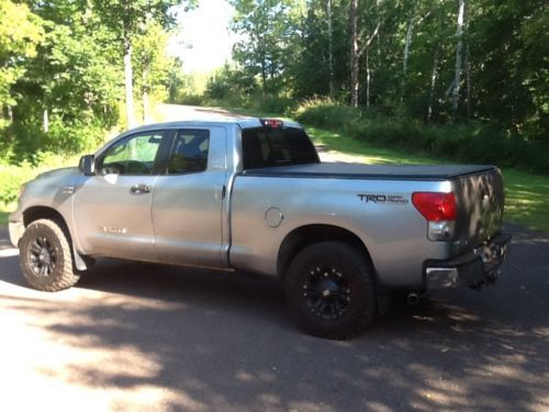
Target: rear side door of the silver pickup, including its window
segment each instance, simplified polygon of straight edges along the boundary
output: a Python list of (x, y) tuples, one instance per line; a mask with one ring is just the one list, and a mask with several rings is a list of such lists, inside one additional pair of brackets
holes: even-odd
[[(153, 197), (155, 243), (161, 261), (224, 267), (226, 131), (222, 126), (177, 132), (166, 172)], [(225, 237), (227, 237), (225, 235)]]

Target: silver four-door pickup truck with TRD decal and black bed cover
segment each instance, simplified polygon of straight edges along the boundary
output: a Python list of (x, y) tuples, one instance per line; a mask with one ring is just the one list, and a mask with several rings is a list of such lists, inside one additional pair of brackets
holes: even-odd
[(296, 123), (225, 119), (131, 130), (38, 176), (9, 229), (40, 290), (96, 257), (246, 270), (281, 279), (309, 333), (346, 338), (389, 290), (493, 282), (503, 208), (494, 166), (321, 163)]

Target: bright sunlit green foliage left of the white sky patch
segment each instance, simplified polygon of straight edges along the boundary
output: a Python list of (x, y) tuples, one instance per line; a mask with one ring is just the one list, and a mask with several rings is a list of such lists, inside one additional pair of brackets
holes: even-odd
[(127, 124), (119, 112), (128, 86), (141, 102), (132, 116), (147, 116), (180, 71), (165, 53), (173, 3), (0, 0), (0, 163), (96, 147)]

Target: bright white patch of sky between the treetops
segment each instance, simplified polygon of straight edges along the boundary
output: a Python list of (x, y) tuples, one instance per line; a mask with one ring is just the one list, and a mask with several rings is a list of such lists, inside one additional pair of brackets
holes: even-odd
[(186, 73), (209, 73), (231, 59), (235, 35), (228, 30), (233, 8), (225, 0), (199, 0), (192, 11), (179, 13), (179, 34), (168, 51), (183, 60)]

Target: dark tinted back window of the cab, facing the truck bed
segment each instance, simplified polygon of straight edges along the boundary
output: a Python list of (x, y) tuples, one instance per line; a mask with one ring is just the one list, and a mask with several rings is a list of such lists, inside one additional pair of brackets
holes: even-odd
[(245, 170), (320, 162), (316, 149), (301, 129), (245, 129), (242, 138)]

